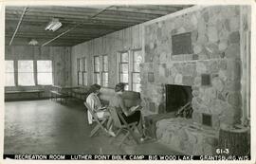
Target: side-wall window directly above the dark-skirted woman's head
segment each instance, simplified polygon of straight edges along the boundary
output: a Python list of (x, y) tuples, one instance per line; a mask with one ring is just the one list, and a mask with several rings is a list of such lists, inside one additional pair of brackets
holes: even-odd
[(119, 82), (126, 83), (125, 90), (129, 89), (129, 53), (120, 53)]

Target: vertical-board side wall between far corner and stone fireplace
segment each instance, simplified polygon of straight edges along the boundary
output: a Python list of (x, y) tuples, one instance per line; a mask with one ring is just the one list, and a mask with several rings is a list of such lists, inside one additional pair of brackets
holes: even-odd
[(72, 84), (77, 85), (77, 59), (87, 58), (88, 84), (93, 83), (93, 57), (98, 55), (108, 55), (109, 87), (114, 87), (118, 82), (117, 54), (119, 51), (141, 48), (142, 45), (142, 25), (128, 27), (117, 32), (102, 36), (72, 46)]

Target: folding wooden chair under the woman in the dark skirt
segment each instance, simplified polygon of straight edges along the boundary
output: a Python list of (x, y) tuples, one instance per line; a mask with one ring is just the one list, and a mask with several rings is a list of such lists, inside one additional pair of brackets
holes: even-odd
[[(122, 117), (121, 112), (119, 110), (117, 110), (115, 107), (109, 107), (109, 111), (110, 111), (111, 117), (114, 121), (114, 126), (119, 129), (118, 133), (116, 134), (116, 137), (119, 136), (121, 131), (125, 132), (124, 137), (122, 137), (120, 140), (119, 146), (129, 136), (131, 136), (138, 144), (139, 141), (137, 140), (137, 137), (134, 134), (134, 130), (137, 128), (137, 122), (127, 123), (125, 121), (125, 119)], [(123, 122), (123, 124), (121, 124), (121, 122)], [(115, 137), (111, 140), (111, 142), (113, 142), (114, 139), (115, 139)]]

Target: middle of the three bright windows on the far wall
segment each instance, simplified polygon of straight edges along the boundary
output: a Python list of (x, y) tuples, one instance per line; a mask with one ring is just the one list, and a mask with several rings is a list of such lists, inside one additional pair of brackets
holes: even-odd
[(35, 85), (33, 61), (18, 61), (18, 84)]

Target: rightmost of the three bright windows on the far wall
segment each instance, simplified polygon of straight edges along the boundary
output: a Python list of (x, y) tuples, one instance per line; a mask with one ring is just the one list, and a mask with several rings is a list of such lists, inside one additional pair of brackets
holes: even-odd
[(37, 82), (42, 85), (53, 83), (51, 61), (37, 61)]

